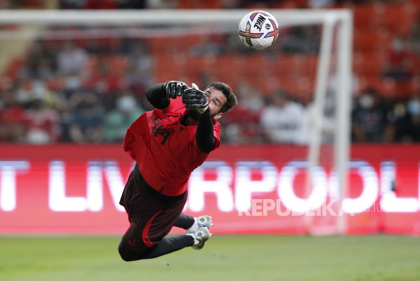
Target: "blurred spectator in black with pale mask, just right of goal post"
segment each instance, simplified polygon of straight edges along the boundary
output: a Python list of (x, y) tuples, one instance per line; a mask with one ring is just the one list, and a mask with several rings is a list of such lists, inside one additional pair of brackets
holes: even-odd
[(356, 142), (390, 142), (395, 126), (389, 111), (374, 89), (367, 89), (353, 111), (353, 136)]

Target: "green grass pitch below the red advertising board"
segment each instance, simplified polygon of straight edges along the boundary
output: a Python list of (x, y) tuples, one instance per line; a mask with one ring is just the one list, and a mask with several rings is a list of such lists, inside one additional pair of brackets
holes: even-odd
[(119, 240), (0, 237), (0, 280), (420, 280), (420, 239), (407, 236), (214, 236), (135, 262), (119, 258)]

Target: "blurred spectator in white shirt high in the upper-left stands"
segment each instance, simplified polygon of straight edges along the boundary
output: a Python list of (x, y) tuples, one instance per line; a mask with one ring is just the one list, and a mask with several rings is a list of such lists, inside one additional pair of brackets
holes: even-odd
[(64, 43), (63, 51), (57, 56), (58, 70), (62, 75), (78, 75), (88, 61), (88, 53), (78, 48), (73, 41)]

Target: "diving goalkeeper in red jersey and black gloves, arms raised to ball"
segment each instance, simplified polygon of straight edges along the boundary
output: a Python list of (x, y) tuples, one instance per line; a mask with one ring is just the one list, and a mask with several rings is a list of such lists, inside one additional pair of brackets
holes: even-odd
[[(223, 114), (237, 100), (221, 82), (204, 91), (179, 81), (157, 84), (146, 91), (156, 109), (142, 114), (127, 130), (123, 149), (135, 161), (120, 203), (130, 227), (118, 252), (125, 261), (156, 258), (188, 246), (201, 249), (211, 237), (212, 218), (182, 214), (191, 172), (220, 146)], [(186, 235), (165, 237), (173, 226)]]

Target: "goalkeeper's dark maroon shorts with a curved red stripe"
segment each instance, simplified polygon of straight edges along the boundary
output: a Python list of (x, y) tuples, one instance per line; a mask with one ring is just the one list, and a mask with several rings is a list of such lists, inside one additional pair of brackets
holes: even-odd
[(162, 195), (141, 174), (139, 179), (139, 174), (136, 177), (135, 170), (131, 172), (119, 202), (130, 221), (122, 241), (134, 251), (159, 243), (171, 231), (187, 201), (187, 192), (176, 197)]

